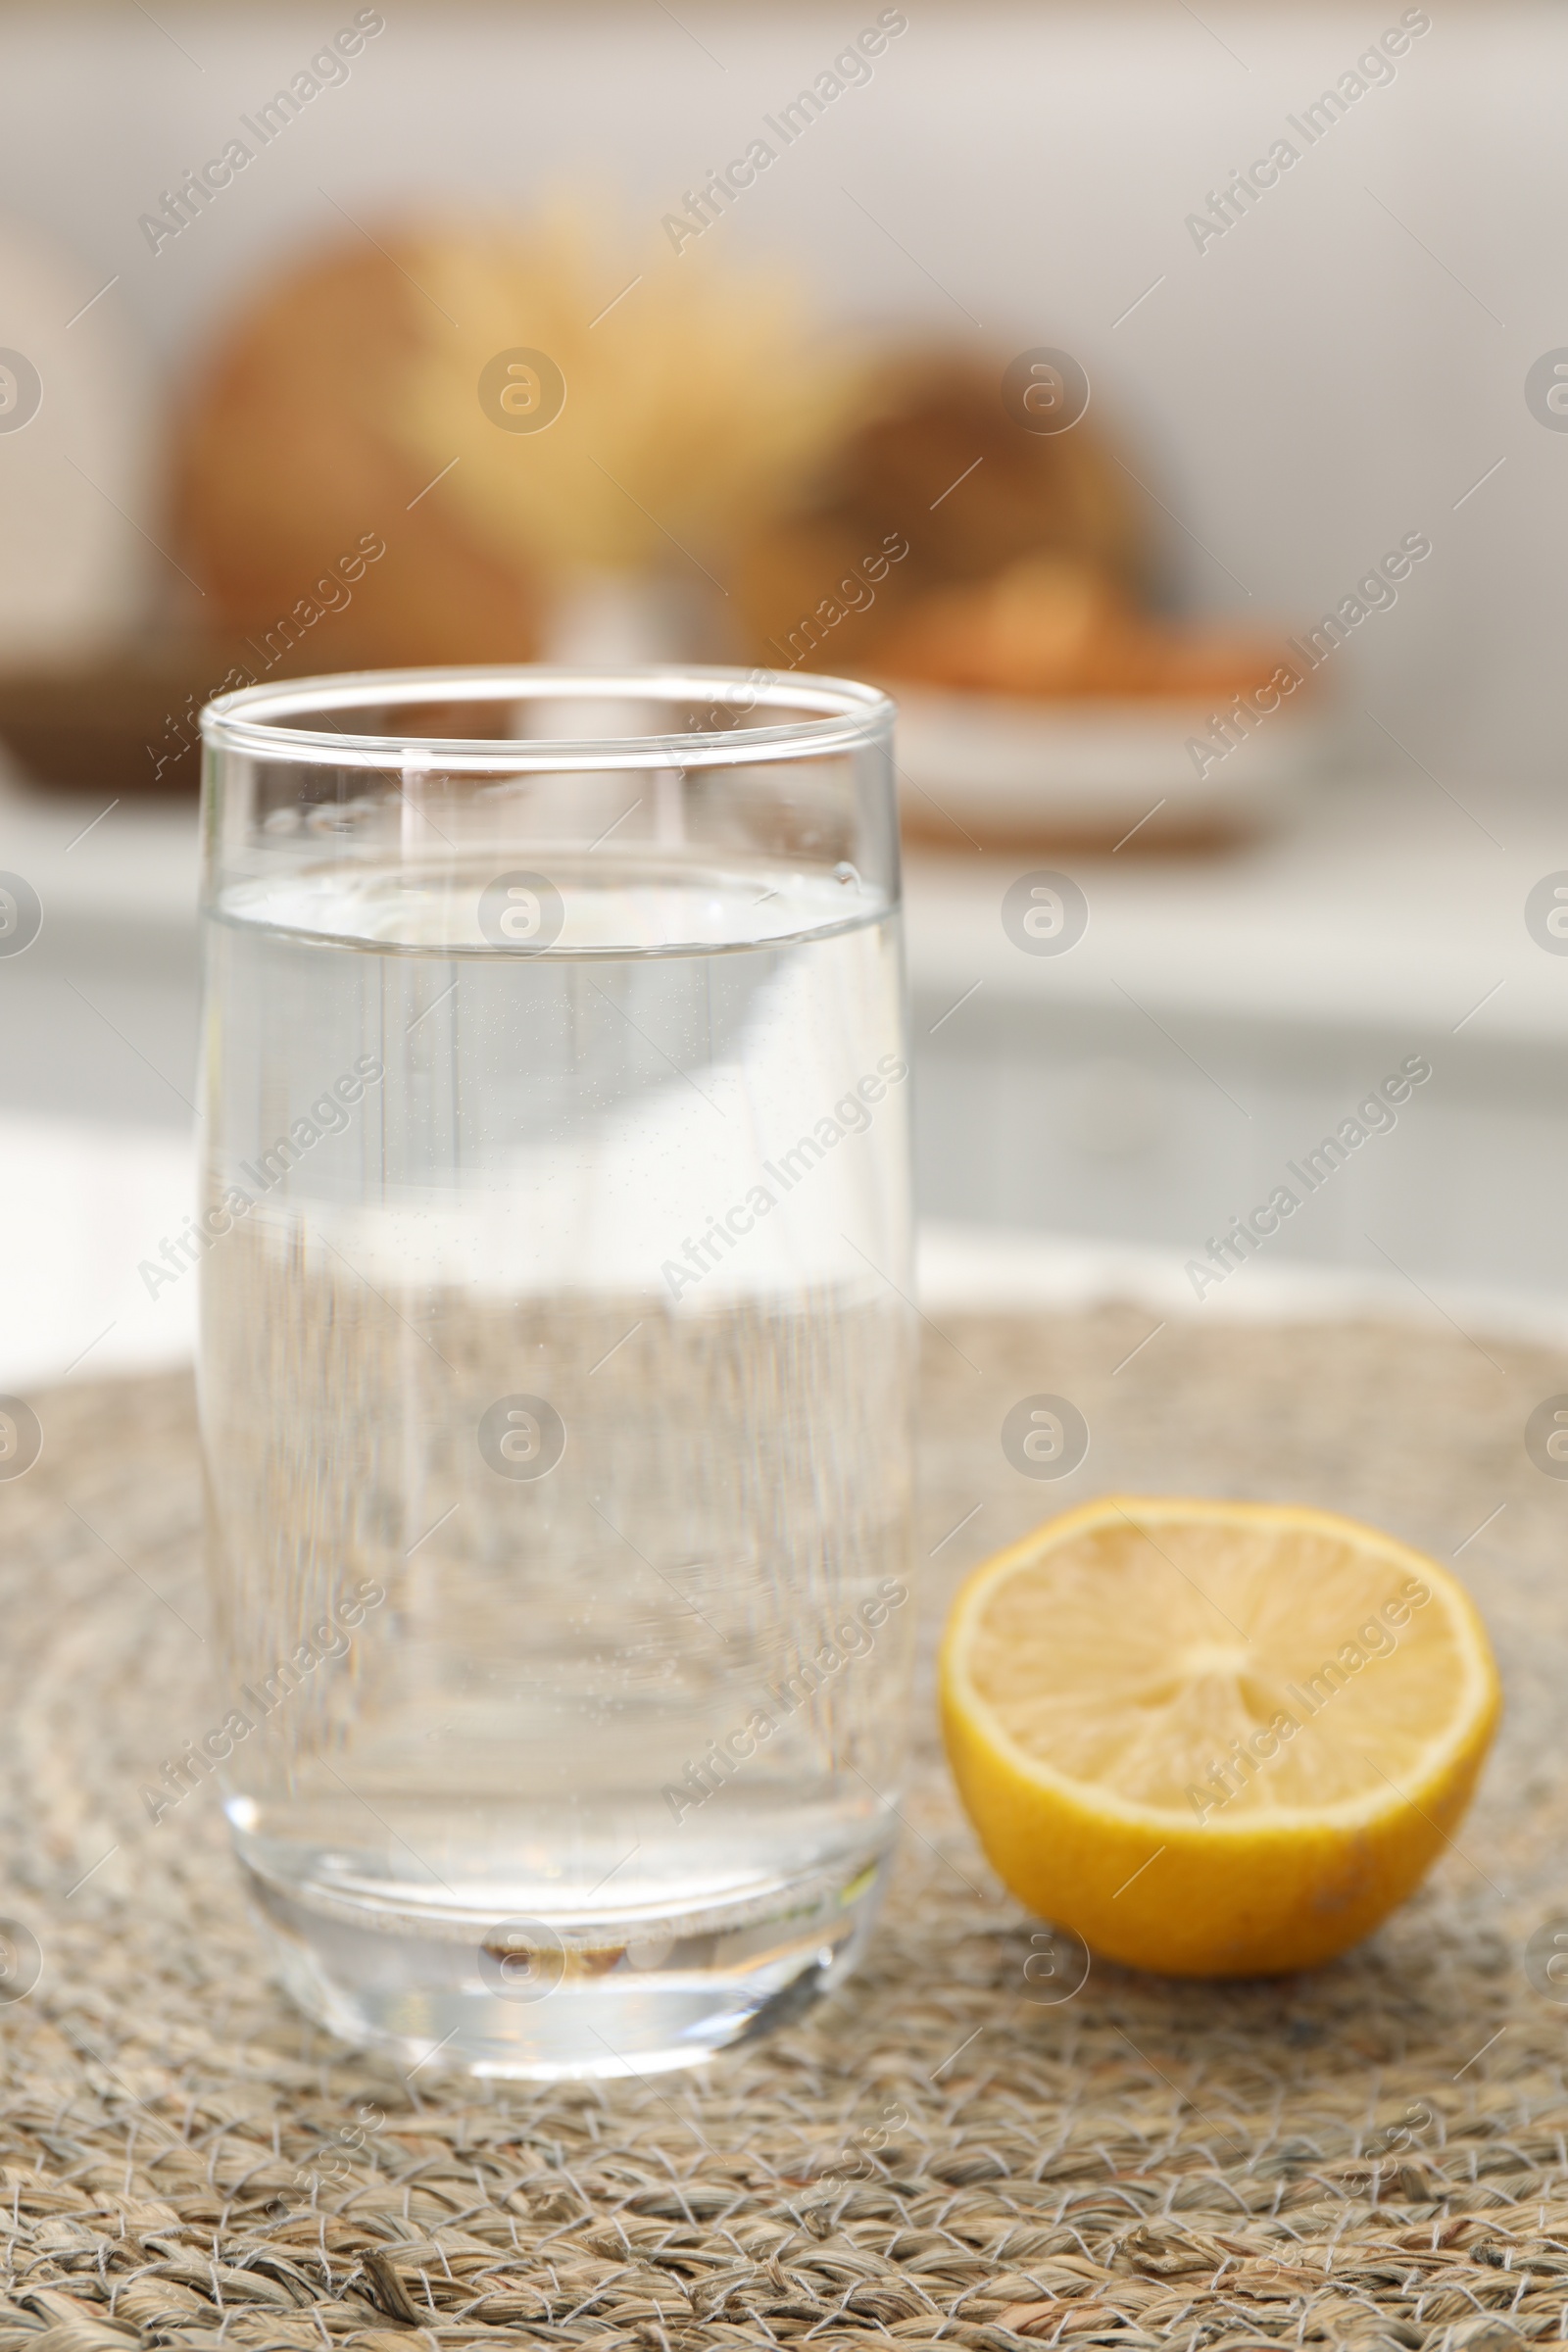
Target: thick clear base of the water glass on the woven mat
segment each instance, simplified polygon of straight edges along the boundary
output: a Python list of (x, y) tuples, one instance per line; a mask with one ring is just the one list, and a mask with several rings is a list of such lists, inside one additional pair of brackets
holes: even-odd
[(282, 1884), (242, 1856), (308, 2018), (404, 2070), (534, 2082), (705, 2065), (790, 2023), (860, 1959), (886, 1867), (879, 1849), (696, 1917), (496, 1926)]

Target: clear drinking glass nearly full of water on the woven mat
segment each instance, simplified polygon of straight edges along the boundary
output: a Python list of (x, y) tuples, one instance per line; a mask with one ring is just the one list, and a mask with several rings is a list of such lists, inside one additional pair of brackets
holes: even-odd
[(853, 1966), (912, 1646), (893, 708), (395, 670), (205, 731), (207, 1755), (296, 2002), (654, 2072)]

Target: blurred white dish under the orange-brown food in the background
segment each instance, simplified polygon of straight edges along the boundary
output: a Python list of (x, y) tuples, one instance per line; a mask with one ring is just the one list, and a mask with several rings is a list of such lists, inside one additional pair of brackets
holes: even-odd
[(1284, 703), (1199, 776), (1190, 739), (1213, 703), (1030, 701), (889, 682), (898, 793), (912, 833), (1140, 851), (1204, 849), (1279, 816), (1333, 760), (1333, 724)]

